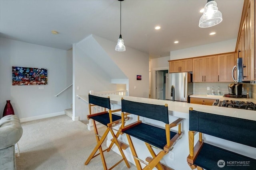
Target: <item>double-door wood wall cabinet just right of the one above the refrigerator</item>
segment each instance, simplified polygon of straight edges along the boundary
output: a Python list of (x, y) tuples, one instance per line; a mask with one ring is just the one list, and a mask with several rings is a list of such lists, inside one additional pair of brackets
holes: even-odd
[(193, 59), (193, 82), (217, 82), (217, 56)]

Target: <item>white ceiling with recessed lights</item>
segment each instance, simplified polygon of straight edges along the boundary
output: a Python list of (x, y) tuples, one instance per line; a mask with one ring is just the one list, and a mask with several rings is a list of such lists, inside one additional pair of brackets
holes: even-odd
[[(215, 1), (223, 21), (200, 28), (199, 11), (206, 0), (124, 0), (124, 45), (148, 53), (152, 59), (170, 56), (170, 51), (236, 39), (244, 0)], [(155, 30), (156, 25), (162, 28)], [(216, 34), (210, 36), (212, 31)], [(117, 42), (118, 0), (0, 0), (1, 37), (68, 50), (90, 34)]]

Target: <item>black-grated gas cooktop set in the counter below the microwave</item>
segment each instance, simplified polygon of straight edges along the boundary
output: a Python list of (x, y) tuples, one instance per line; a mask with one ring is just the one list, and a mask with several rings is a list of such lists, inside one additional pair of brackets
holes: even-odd
[(229, 107), (229, 108), (236, 108), (236, 109), (246, 109), (246, 110), (255, 110), (256, 111), (256, 104), (252, 102), (243, 102), (243, 101), (236, 101), (236, 100), (215, 100), (212, 106), (219, 106), (219, 107)]

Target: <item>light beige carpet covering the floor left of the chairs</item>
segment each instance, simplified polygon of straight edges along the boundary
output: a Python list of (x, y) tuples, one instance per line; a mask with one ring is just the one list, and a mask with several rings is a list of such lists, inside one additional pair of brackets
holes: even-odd
[[(100, 156), (84, 166), (94, 147), (94, 131), (80, 121), (72, 121), (67, 115), (22, 123), (23, 135), (18, 142), (20, 156), (16, 158), (17, 170), (102, 170)], [(106, 127), (98, 129), (102, 135)], [(104, 143), (106, 146), (106, 141)], [(128, 148), (129, 149), (129, 148)], [(104, 152), (108, 168), (121, 156), (112, 150)], [(136, 166), (130, 163), (130, 170)], [(122, 161), (114, 170), (126, 170)]]

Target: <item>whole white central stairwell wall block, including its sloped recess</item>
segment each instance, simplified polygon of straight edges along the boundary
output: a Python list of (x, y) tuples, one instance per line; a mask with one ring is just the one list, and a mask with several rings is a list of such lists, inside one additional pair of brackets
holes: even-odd
[[(126, 84), (129, 96), (148, 98), (148, 55), (129, 47), (117, 52), (115, 46), (94, 35), (73, 45), (73, 119), (86, 120), (88, 114), (88, 103), (77, 95), (117, 90), (119, 86), (112, 83)], [(142, 80), (136, 80), (136, 75), (142, 75)]]

